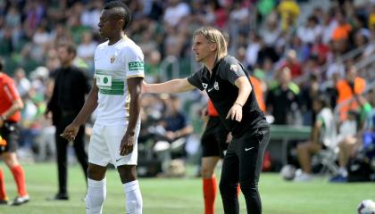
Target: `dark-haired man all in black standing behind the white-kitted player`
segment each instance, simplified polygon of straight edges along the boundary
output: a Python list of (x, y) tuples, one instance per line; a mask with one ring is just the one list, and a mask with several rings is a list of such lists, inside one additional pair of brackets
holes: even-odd
[[(58, 47), (61, 68), (57, 69), (54, 77), (54, 92), (47, 104), (46, 115), (51, 112), (56, 128), (55, 141), (57, 153), (57, 168), (59, 177), (59, 192), (51, 200), (68, 200), (67, 192), (67, 151), (69, 142), (60, 136), (63, 130), (77, 116), (83, 104), (85, 95), (90, 90), (85, 71), (72, 66), (76, 56), (76, 47), (72, 44), (61, 44)], [(77, 160), (82, 167), (87, 180), (87, 152), (84, 144), (84, 126), (72, 145)]]

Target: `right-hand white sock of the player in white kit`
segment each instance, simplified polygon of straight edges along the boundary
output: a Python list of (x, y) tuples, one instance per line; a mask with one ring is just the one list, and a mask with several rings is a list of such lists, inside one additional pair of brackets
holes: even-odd
[(134, 180), (123, 184), (126, 196), (126, 213), (142, 214), (142, 195), (140, 193), (138, 181)]

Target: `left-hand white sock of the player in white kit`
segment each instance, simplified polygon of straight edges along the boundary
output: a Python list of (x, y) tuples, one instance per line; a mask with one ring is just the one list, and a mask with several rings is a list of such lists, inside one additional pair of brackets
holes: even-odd
[(106, 180), (105, 177), (101, 181), (96, 181), (87, 178), (87, 195), (86, 195), (86, 213), (87, 214), (101, 214), (103, 210), (103, 203), (106, 195)]

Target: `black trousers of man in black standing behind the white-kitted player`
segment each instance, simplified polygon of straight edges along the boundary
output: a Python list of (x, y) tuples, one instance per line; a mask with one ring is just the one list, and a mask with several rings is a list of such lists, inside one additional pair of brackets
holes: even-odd
[[(59, 192), (62, 194), (67, 194), (67, 177), (68, 177), (68, 146), (69, 142), (65, 140), (62, 136), (63, 130), (71, 124), (71, 121), (75, 118), (75, 114), (64, 115), (62, 119), (56, 124), (56, 133), (54, 135), (56, 141), (56, 161), (57, 161), (57, 172), (59, 178)], [(85, 151), (85, 127), (81, 126), (79, 132), (73, 142), (74, 152), (76, 154), (77, 160), (85, 174), (87, 181), (87, 152)]]

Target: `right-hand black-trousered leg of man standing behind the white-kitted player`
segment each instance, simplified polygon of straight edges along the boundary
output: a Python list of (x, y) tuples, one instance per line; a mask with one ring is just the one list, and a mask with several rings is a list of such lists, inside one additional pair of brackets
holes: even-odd
[(85, 174), (85, 180), (87, 180), (87, 153), (85, 151), (85, 127), (79, 128), (79, 132), (74, 140), (74, 152), (76, 153), (77, 160)]

